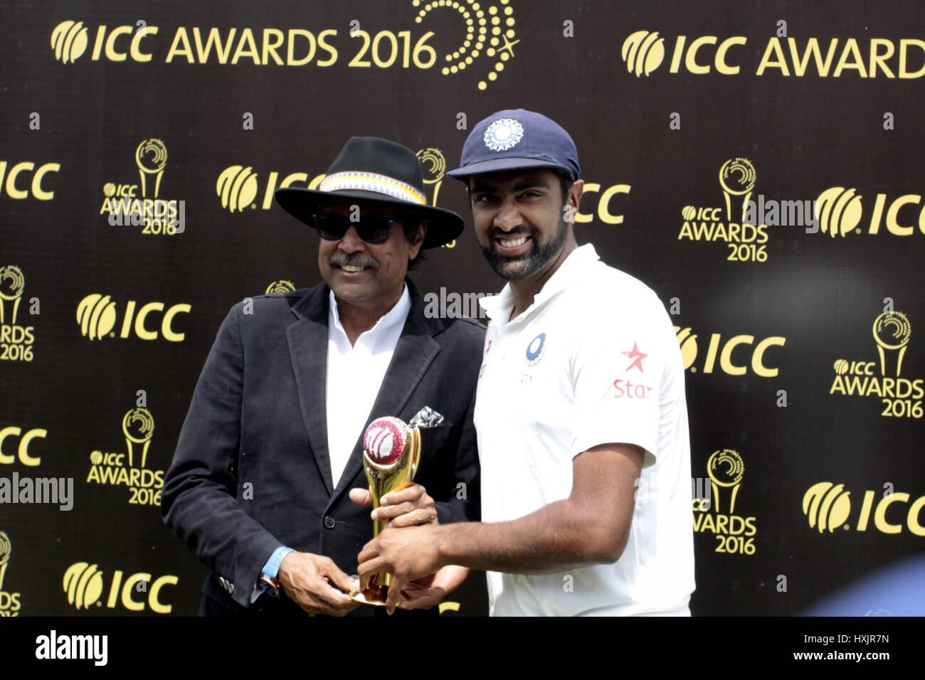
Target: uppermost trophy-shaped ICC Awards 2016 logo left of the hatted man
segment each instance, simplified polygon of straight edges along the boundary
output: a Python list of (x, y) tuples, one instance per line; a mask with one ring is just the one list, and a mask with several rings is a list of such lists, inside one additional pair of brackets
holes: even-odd
[(167, 147), (161, 140), (142, 140), (135, 149), (138, 181), (106, 182), (100, 215), (113, 227), (142, 227), (142, 234), (172, 236), (186, 229), (186, 201), (159, 198), (167, 165)]

